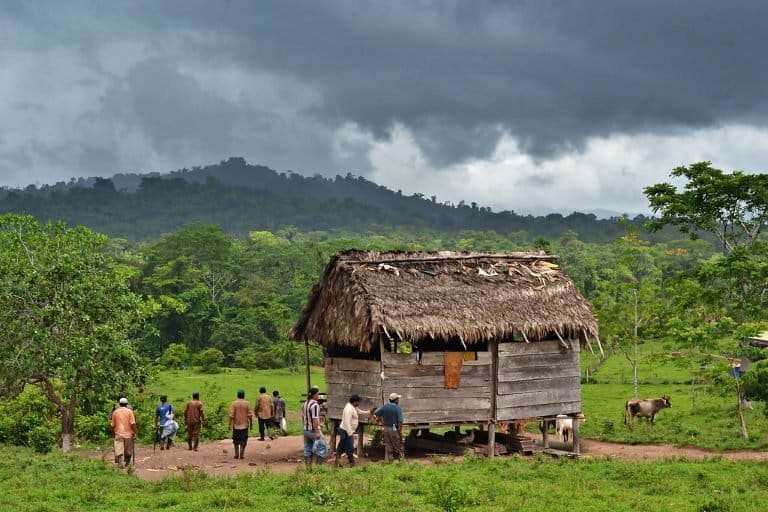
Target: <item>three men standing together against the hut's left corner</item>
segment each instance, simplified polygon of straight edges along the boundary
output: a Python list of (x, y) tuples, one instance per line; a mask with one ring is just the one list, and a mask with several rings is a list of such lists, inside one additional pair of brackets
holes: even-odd
[[(323, 464), (328, 454), (328, 444), (320, 428), (320, 390), (312, 387), (306, 402), (301, 408), (304, 427), (304, 463), (307, 466)], [(369, 411), (382, 426), (384, 443), (387, 445), (387, 455), (390, 454), (402, 460), (405, 457), (403, 448), (403, 410), (400, 408), (401, 396), (397, 393), (389, 395), (389, 403)], [(350, 466), (355, 465), (354, 434), (360, 426), (360, 397), (352, 395), (341, 412), (339, 425), (339, 444), (336, 446), (336, 466), (341, 467), (341, 458), (346, 455)], [(369, 420), (371, 422), (371, 420)]]

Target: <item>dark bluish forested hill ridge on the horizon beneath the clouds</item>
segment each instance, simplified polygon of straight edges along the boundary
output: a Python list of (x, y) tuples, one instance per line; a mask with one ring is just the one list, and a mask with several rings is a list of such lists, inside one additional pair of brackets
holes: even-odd
[[(230, 158), (218, 165), (165, 175), (117, 174), (40, 188), (0, 191), (0, 213), (29, 213), (40, 220), (65, 220), (130, 240), (156, 238), (192, 223), (220, 225), (233, 234), (295, 226), (303, 231), (370, 233), (410, 231), (525, 231), (556, 238), (568, 230), (585, 241), (615, 239), (615, 219), (592, 214), (545, 217), (492, 212), (475, 203), (440, 203), (435, 197), (403, 195), (362, 177), (306, 177), (278, 173)], [(636, 218), (640, 223), (644, 219)], [(664, 238), (665, 234), (655, 235)]]

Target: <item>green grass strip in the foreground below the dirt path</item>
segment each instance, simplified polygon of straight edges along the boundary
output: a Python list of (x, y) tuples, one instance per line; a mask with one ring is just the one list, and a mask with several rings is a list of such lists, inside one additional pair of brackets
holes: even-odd
[[(439, 460), (436, 460), (439, 462)], [(43, 478), (44, 475), (44, 478)], [(768, 467), (708, 460), (470, 458), (461, 463), (330, 467), (226, 479), (195, 470), (160, 482), (77, 456), (0, 446), (0, 510), (34, 511), (753, 511)]]

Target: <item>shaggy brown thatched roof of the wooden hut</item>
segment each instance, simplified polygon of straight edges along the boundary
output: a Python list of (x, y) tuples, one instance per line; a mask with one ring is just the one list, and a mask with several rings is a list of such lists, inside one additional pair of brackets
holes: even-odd
[(556, 331), (585, 341), (597, 321), (556, 261), (544, 253), (346, 252), (328, 263), (291, 337), (363, 352), (388, 337), (471, 345)]

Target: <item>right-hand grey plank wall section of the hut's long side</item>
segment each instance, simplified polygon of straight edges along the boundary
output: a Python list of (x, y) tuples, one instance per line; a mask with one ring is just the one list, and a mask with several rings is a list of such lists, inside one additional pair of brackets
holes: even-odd
[(579, 343), (500, 343), (496, 396), (499, 421), (581, 412)]

